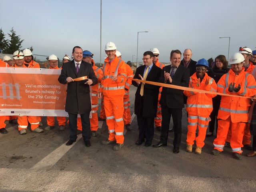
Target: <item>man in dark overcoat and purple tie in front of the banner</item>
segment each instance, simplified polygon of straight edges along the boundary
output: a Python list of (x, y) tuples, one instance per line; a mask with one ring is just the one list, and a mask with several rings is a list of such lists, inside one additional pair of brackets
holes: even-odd
[[(84, 62), (83, 50), (75, 46), (72, 51), (74, 60), (66, 62), (62, 66), (58, 81), (61, 84), (68, 83), (65, 111), (69, 116), (70, 139), (66, 145), (72, 145), (76, 142), (77, 115), (80, 114), (82, 121), (82, 136), (85, 146), (91, 146), (90, 143), (90, 87), (98, 81), (92, 69), (92, 64)], [(87, 76), (88, 80), (74, 81), (73, 79)]]

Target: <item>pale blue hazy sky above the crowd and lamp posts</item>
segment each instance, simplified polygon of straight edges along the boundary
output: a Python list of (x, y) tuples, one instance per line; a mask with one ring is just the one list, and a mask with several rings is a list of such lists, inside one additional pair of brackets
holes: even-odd
[[(80, 46), (100, 62), (100, 0), (1, 0), (0, 28), (11, 28), (22, 48), (62, 59)], [(150, 48), (169, 62), (171, 50), (192, 49), (192, 59), (228, 58), (247, 46), (256, 50), (255, 0), (102, 0), (102, 62), (107, 42), (114, 42), (122, 60), (138, 62)], [(7, 35), (6, 35), (7, 37)], [(46, 57), (40, 57), (44, 60)], [(133, 58), (133, 59), (132, 59)]]

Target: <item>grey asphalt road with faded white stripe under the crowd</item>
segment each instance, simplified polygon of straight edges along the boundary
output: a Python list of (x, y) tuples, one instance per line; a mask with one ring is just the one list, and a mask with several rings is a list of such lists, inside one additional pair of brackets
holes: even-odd
[[(135, 91), (132, 86), (132, 114)], [(166, 147), (136, 146), (138, 126), (136, 116), (132, 117), (133, 130), (125, 130), (119, 151), (100, 143), (108, 138), (105, 121), (100, 122), (98, 136), (91, 138), (91, 147), (84, 145), (81, 135), (66, 146), (68, 128), (60, 131), (57, 124), (41, 134), (29, 127), (26, 135), (19, 134), (17, 125), (8, 124), (8, 134), (0, 135), (0, 191), (256, 191), (256, 157), (246, 157), (248, 150), (244, 149), (242, 160), (235, 160), (230, 148), (213, 156), (212, 137), (206, 138), (202, 154), (186, 152), (185, 110), (179, 154), (172, 152), (173, 132)], [(47, 126), (45, 117), (43, 124)], [(156, 130), (153, 144), (159, 139)]]

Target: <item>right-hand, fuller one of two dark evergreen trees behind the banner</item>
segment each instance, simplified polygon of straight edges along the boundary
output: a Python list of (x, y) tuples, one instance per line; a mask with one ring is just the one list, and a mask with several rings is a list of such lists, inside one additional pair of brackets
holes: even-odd
[(12, 28), (10, 30), (11, 34), (8, 33), (10, 39), (8, 40), (7, 47), (5, 50), (6, 54), (13, 54), (16, 50), (20, 50), (21, 44), (24, 41), (20, 39), (20, 35), (16, 35), (16, 31)]

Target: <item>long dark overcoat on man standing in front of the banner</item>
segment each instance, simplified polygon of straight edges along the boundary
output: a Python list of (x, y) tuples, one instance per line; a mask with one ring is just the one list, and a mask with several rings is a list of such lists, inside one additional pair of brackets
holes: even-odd
[[(61, 84), (66, 84), (67, 77), (75, 79), (83, 76), (87, 76), (92, 80), (93, 83), (91, 86), (98, 82), (94, 74), (94, 70), (92, 69), (92, 64), (82, 61), (77, 74), (75, 62), (72, 60), (63, 64), (58, 81)], [(84, 114), (92, 110), (90, 100), (90, 87), (88, 84), (84, 84), (86, 81), (87, 80), (82, 80), (68, 83), (65, 106), (66, 112), (72, 114)]]

